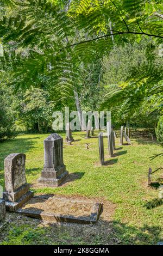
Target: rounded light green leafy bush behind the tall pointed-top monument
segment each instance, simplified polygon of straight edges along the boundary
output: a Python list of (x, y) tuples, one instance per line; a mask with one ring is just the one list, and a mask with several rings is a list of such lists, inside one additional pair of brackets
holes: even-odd
[(48, 93), (39, 88), (28, 89), (22, 100), (15, 102), (19, 119), (28, 131), (35, 132), (52, 130), (54, 106), (54, 102), (49, 102)]

